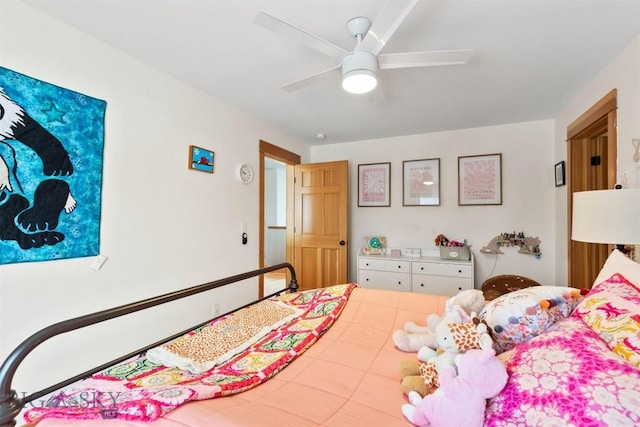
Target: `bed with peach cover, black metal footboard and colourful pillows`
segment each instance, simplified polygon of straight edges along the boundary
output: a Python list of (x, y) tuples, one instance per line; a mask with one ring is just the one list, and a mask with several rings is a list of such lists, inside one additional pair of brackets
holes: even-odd
[[(193, 333), (185, 331), (20, 400), (10, 385), (23, 356), (12, 353), (0, 368), (0, 425), (13, 425), (11, 420), (23, 406), (29, 408), (26, 400), (37, 401), (45, 395), (57, 400), (25, 412), (27, 420), (39, 427), (410, 425), (400, 410), (406, 398), (398, 367), (415, 355), (395, 348), (391, 335), (407, 321), (420, 323), (429, 313), (442, 313), (449, 297), (356, 284), (300, 293), (295, 292), (295, 271), (286, 266), (293, 277), (288, 292), (256, 304), (275, 301), (306, 314), (289, 318), (282, 313), (284, 317), (256, 334), (243, 352), (218, 361), (208, 371), (208, 366), (201, 366), (204, 371), (198, 373), (166, 368), (146, 359), (145, 352)], [(207, 286), (263, 273), (256, 270)], [(536, 287), (536, 292), (546, 288)], [(485, 425), (640, 425), (640, 264), (614, 251), (588, 294), (539, 298), (533, 308), (510, 305), (510, 326), (499, 325), (499, 314), (505, 313), (498, 311), (515, 295), (493, 300), (483, 313), (498, 331), (499, 357), (509, 374), (503, 391), (487, 403)], [(135, 307), (160, 300), (164, 298)], [(517, 309), (522, 313), (515, 313)], [(102, 321), (102, 317), (104, 312), (90, 320)], [(196, 330), (216, 322), (198, 325)], [(276, 358), (272, 352), (285, 356)], [(247, 358), (266, 362), (258, 369), (247, 368)], [(240, 372), (244, 377), (230, 376), (229, 369), (245, 369)], [(173, 389), (166, 388), (169, 373), (184, 380), (169, 384)], [(63, 391), (58, 390), (61, 387)], [(162, 387), (170, 393), (156, 399), (153, 393)], [(82, 391), (93, 394), (82, 400)], [(97, 404), (96, 395), (102, 399)], [(91, 402), (86, 396), (94, 399), (93, 405), (86, 403)], [(24, 423), (18, 420), (19, 425)]]

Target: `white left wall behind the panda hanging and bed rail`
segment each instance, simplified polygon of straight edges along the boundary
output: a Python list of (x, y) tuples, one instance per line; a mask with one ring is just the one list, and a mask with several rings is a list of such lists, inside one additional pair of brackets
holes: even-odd
[[(52, 322), (257, 268), (259, 183), (240, 184), (237, 167), (257, 170), (260, 139), (303, 160), (309, 149), (20, 2), (1, 8), (2, 66), (107, 101), (100, 249), (109, 259), (98, 272), (92, 258), (0, 265), (0, 360)], [(216, 152), (213, 175), (188, 170), (189, 144)], [(34, 391), (206, 320), (213, 300), (226, 311), (256, 296), (250, 280), (178, 303), (173, 314), (134, 315), (110, 324), (101, 353), (101, 326), (51, 340), (19, 369), (16, 389)], [(64, 348), (77, 350), (63, 357)], [(52, 363), (56, 376), (42, 369)]]

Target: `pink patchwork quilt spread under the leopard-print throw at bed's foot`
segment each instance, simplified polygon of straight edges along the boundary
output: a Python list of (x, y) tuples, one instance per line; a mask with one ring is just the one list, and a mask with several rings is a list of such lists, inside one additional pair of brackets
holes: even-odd
[[(141, 355), (56, 393), (28, 409), (24, 418), (27, 422), (47, 417), (152, 421), (191, 400), (248, 390), (273, 377), (315, 343), (340, 315), (355, 287), (336, 285), (277, 297), (302, 314), (206, 372), (166, 367)], [(234, 313), (217, 321), (232, 316)]]

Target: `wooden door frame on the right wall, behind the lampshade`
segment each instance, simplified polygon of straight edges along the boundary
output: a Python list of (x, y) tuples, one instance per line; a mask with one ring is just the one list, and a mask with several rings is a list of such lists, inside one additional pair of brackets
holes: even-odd
[[(591, 108), (567, 126), (567, 274), (568, 283), (572, 283), (572, 216), (573, 216), (573, 189), (575, 168), (571, 164), (572, 149), (578, 141), (592, 138), (601, 130), (596, 125), (605, 117), (607, 119), (607, 187), (613, 189), (617, 180), (618, 138), (617, 138), (617, 102), (618, 91), (612, 89), (603, 96)], [(597, 129), (598, 128), (598, 129)], [(613, 247), (610, 245), (611, 248)], [(610, 248), (610, 249), (611, 249)]]

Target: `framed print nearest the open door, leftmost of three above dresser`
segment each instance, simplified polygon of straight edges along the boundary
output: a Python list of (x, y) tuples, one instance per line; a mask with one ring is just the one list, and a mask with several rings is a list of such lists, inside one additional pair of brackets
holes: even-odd
[(358, 206), (391, 206), (391, 163), (358, 165)]

